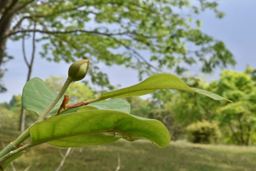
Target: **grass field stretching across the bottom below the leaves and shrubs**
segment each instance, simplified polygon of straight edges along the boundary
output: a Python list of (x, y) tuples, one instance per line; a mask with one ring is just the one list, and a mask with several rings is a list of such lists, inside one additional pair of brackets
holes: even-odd
[[(3, 138), (5, 136), (5, 138)], [(14, 136), (0, 133), (8, 144)], [(32, 147), (13, 162), (16, 170), (55, 170), (67, 148), (49, 144)], [(256, 170), (256, 147), (171, 142), (165, 148), (139, 140), (72, 148), (60, 170)], [(12, 170), (8, 166), (7, 171)]]

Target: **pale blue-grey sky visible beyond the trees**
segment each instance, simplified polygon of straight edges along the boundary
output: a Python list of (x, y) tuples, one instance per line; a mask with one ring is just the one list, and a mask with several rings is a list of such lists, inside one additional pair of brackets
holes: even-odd
[[(222, 0), (219, 1), (219, 9), (226, 13), (225, 17), (218, 19), (211, 11), (200, 14), (202, 20), (201, 30), (216, 39), (224, 41), (227, 48), (234, 55), (237, 65), (228, 67), (235, 71), (244, 71), (245, 67), (256, 68), (256, 1), (255, 0)], [(31, 41), (26, 42), (27, 56), (31, 55)], [(71, 63), (61, 61), (60, 63), (49, 62), (39, 56), (40, 46), (36, 47), (32, 77), (39, 77), (42, 80), (50, 76), (67, 77)], [(7, 42), (7, 53), (14, 56), (14, 59), (7, 62), (3, 68), (7, 68), (3, 82), (8, 91), (0, 94), (0, 103), (9, 102), (13, 95), (22, 94), (22, 89), (27, 79), (27, 66), (22, 56), (21, 41)], [(143, 55), (143, 54), (142, 54)], [(200, 74), (197, 67), (190, 69), (191, 74)], [(120, 66), (107, 67), (101, 65), (101, 70), (109, 75), (110, 82), (121, 87), (132, 86), (139, 82), (137, 71), (126, 69)], [(118, 71), (118, 72), (117, 72)], [(221, 69), (216, 69), (214, 74), (203, 75), (207, 81), (218, 79)], [(85, 78), (89, 80), (89, 77)], [(146, 96), (148, 97), (148, 96)]]

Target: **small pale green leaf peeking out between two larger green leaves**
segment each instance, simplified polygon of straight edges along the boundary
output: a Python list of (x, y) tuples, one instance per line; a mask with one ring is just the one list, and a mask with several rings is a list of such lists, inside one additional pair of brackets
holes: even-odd
[(87, 106), (84, 106), (78, 111), (87, 111), (92, 109), (113, 110), (113, 111), (120, 111), (128, 114), (130, 114), (131, 112), (130, 103), (120, 98), (94, 102), (94, 103), (88, 104)]

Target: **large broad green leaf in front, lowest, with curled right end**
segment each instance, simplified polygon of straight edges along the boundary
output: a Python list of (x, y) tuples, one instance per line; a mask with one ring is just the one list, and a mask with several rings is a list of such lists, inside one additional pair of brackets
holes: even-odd
[(117, 141), (147, 139), (165, 147), (170, 141), (166, 127), (158, 120), (111, 110), (90, 110), (63, 114), (30, 128), (32, 143), (63, 147), (95, 145)]

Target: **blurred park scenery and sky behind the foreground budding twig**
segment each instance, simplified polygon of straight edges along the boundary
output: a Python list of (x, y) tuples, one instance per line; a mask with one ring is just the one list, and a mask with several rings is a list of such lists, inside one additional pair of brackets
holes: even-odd
[(2, 146), (37, 118), (22, 109), (25, 83), (40, 77), (58, 92), (80, 59), (90, 60), (90, 71), (66, 93), (75, 102), (156, 73), (178, 75), (190, 87), (233, 101), (170, 90), (125, 98), (131, 114), (165, 124), (169, 146), (43, 144), (6, 170), (254, 170), (255, 8), (253, 0), (1, 0)]

